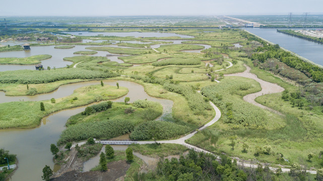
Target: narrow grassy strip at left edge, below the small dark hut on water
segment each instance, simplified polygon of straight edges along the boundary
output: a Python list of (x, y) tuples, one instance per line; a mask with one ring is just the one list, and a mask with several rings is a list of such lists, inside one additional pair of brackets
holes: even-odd
[(34, 55), (25, 58), (0, 58), (0, 64), (17, 64), (17, 65), (28, 65), (28, 64), (38, 64), (41, 60), (51, 58), (51, 55)]

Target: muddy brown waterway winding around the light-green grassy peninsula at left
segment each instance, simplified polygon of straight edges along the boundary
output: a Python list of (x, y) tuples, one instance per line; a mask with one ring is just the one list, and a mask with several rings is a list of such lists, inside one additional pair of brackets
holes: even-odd
[[(171, 111), (172, 101), (148, 96), (144, 91), (144, 87), (138, 83), (123, 80), (104, 80), (103, 82), (109, 85), (115, 85), (118, 82), (120, 86), (127, 87), (129, 93), (126, 97), (130, 97), (130, 102), (138, 99), (157, 101), (164, 107), (164, 114)], [(44, 94), (43, 96), (22, 96), (20, 99), (39, 101), (50, 99), (53, 96), (56, 98), (64, 97), (73, 93), (75, 88), (99, 83), (100, 81), (88, 81), (62, 85), (55, 92)], [(123, 102), (124, 97), (113, 101)], [(6, 96), (0, 96), (0, 100), (4, 98), (6, 99)], [(72, 115), (84, 111), (85, 108), (86, 106), (53, 113), (43, 118), (41, 125), (34, 129), (0, 130), (0, 138), (2, 138), (0, 139), (1, 147), (17, 154), (19, 160), (19, 168), (10, 180), (41, 180), (41, 170), (44, 165), (49, 165), (51, 168), (54, 166), (52, 161), (53, 155), (49, 151), (50, 144), (56, 143), (59, 135), (65, 129), (64, 125), (67, 120)]]

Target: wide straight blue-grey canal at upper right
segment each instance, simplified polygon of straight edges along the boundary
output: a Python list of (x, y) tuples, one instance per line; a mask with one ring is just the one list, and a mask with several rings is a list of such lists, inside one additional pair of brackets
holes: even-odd
[(243, 28), (310, 61), (323, 65), (323, 44), (278, 33), (276, 28)]

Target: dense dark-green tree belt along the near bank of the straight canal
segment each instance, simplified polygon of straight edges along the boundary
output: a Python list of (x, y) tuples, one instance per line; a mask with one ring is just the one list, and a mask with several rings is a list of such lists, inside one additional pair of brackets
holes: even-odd
[(306, 76), (314, 80), (315, 82), (323, 82), (323, 68), (315, 65), (311, 62), (305, 62), (290, 52), (280, 49), (279, 45), (271, 45), (268, 42), (257, 38), (247, 32), (240, 32), (241, 36), (247, 38), (249, 41), (258, 41), (263, 44), (262, 47), (256, 49), (259, 53), (253, 53), (251, 60), (259, 60), (265, 62), (268, 58), (276, 58), (286, 65), (298, 69)]

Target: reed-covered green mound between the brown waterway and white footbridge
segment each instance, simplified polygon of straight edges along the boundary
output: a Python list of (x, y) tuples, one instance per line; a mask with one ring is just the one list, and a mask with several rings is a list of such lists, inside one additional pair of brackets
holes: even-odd
[(58, 144), (85, 140), (91, 136), (109, 139), (130, 133), (136, 126), (143, 127), (142, 124), (151, 122), (162, 112), (163, 107), (157, 102), (137, 100), (133, 104), (114, 103), (111, 108), (90, 115), (79, 113), (68, 120), (67, 129), (62, 132)]

